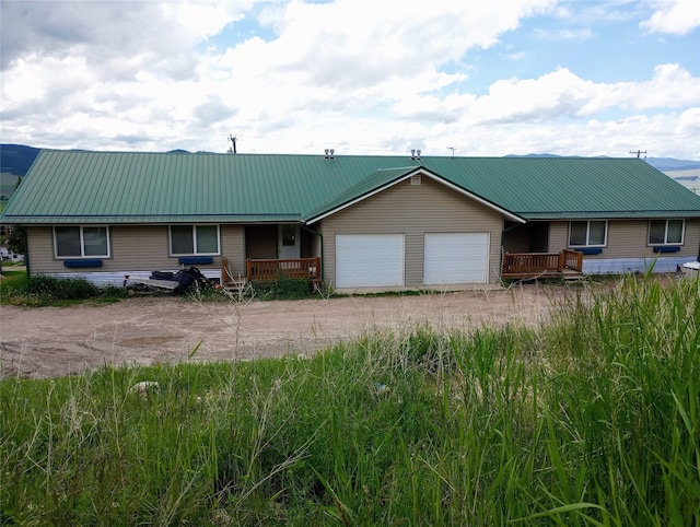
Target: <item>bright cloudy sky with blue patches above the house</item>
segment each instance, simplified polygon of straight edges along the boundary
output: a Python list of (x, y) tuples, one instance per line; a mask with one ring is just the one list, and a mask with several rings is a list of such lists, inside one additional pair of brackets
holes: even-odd
[(0, 2), (0, 140), (700, 160), (698, 0)]

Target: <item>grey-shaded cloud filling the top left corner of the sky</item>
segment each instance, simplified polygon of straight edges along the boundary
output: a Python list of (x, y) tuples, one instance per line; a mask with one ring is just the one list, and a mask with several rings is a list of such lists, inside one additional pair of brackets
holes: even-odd
[(140, 56), (142, 67), (191, 54), (252, 2), (3, 1), (2, 69), (26, 55), (80, 55), (97, 67)]

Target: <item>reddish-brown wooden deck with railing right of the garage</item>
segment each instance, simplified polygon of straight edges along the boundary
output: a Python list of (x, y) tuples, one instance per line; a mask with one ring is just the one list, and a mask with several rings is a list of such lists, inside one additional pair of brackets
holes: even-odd
[(583, 277), (583, 254), (564, 249), (561, 253), (505, 253), (503, 255), (504, 279)]

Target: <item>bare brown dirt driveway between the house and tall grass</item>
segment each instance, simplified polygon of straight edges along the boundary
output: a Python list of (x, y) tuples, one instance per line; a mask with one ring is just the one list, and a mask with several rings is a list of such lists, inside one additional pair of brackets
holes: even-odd
[(581, 286), (524, 284), (419, 296), (198, 303), (132, 297), (112, 305), (0, 306), (0, 376), (50, 377), (104, 364), (249, 360), (314, 353), (375, 328), (429, 323), (436, 330), (537, 325)]

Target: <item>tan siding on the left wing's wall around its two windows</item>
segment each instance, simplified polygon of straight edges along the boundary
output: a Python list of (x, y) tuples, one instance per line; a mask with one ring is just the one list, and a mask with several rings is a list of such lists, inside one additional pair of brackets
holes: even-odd
[[(52, 227), (28, 227), (30, 268), (33, 273), (68, 272), (63, 259), (57, 259), (54, 250)], [(178, 257), (170, 256), (167, 225), (112, 225), (109, 226), (110, 257), (102, 259), (100, 268), (79, 268), (83, 271), (120, 272), (178, 269)], [(245, 271), (244, 235), (241, 225), (221, 225), (222, 253), (230, 259), (234, 272)], [(221, 268), (221, 256), (214, 256), (211, 265), (198, 265), (200, 269)]]

